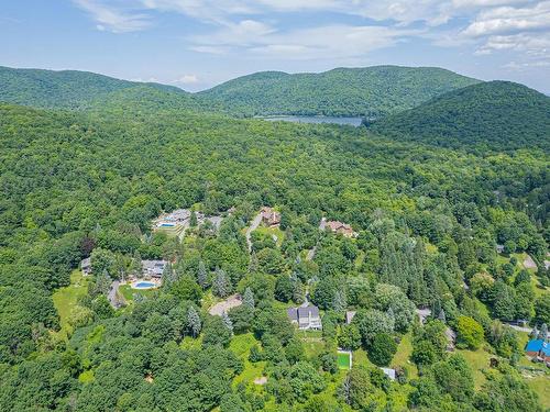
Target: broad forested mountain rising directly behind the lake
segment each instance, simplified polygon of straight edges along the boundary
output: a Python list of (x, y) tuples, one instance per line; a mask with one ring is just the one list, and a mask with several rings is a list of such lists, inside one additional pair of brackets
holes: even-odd
[(377, 118), (476, 82), (441, 68), (375, 66), (320, 74), (256, 73), (199, 96), (231, 104), (248, 114)]

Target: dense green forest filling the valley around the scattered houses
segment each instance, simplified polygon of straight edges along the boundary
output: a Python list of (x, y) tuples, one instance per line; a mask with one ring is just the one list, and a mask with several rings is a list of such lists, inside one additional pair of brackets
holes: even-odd
[[(472, 151), (486, 129), (444, 147), (233, 119), (146, 85), (109, 96), (0, 104), (0, 410), (550, 408), (524, 354), (550, 323), (543, 119)], [(249, 240), (266, 205), (279, 223)], [(153, 230), (179, 208), (184, 236)], [(124, 285), (142, 259), (168, 263), (160, 288)], [(308, 302), (322, 331), (287, 316)]]

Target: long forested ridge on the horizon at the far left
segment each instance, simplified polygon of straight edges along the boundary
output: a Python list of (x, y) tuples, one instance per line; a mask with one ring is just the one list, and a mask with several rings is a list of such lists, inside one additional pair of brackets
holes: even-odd
[[(172, 86), (142, 83), (77, 70), (15, 69), (0, 66), (0, 101), (37, 108), (85, 109), (119, 96), (163, 96), (182, 108), (193, 107), (190, 93)], [(154, 100), (154, 99), (153, 99)]]

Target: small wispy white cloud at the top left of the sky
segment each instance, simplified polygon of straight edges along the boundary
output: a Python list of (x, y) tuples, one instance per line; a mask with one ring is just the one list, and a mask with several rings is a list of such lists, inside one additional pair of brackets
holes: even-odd
[(118, 10), (112, 4), (107, 5), (97, 0), (73, 1), (92, 16), (98, 23), (96, 29), (99, 31), (125, 33), (140, 31), (151, 25), (150, 19), (143, 13)]

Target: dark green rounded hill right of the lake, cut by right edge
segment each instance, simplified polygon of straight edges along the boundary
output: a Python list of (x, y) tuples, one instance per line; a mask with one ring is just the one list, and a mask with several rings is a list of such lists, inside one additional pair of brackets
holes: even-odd
[(371, 125), (376, 133), (446, 147), (550, 148), (550, 97), (488, 81), (437, 97)]

